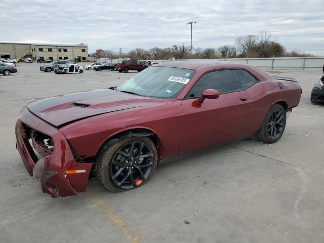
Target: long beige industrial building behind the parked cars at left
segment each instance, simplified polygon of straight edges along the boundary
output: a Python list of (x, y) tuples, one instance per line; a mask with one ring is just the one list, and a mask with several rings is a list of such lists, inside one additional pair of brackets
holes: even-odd
[(88, 45), (52, 45), (31, 43), (8, 43), (0, 42), (0, 59), (5, 58), (32, 58), (33, 62), (38, 59), (70, 60), (75, 58), (79, 62), (88, 61)]

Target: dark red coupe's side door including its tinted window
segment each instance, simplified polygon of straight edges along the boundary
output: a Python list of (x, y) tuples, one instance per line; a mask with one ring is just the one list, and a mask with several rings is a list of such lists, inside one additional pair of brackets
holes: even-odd
[[(207, 89), (218, 90), (218, 99), (196, 101)], [(181, 105), (182, 137), (179, 154), (232, 140), (247, 133), (246, 92), (235, 70), (215, 70), (202, 75)]]

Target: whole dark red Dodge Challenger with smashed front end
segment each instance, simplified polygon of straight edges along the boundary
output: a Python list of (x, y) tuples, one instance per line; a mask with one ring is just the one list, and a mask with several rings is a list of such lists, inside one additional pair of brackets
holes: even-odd
[(92, 175), (118, 192), (145, 184), (166, 158), (253, 133), (278, 141), (300, 96), (295, 79), (249, 65), (161, 63), (118, 87), (29, 103), (17, 148), (53, 197), (85, 191)]

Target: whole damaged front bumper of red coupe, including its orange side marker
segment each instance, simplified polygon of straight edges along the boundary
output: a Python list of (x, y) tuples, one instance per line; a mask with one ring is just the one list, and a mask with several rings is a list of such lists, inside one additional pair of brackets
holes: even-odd
[[(15, 132), (23, 163), (30, 176), (41, 180), (43, 192), (60, 197), (86, 191), (92, 163), (77, 163), (62, 132), (28, 109), (19, 115)], [(50, 146), (43, 138), (51, 140)]]

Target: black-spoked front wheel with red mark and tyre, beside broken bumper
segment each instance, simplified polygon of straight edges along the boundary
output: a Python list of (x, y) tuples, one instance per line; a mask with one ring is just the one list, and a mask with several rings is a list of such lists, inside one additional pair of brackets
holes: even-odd
[(134, 189), (145, 184), (157, 165), (157, 153), (147, 137), (128, 137), (109, 148), (102, 147), (97, 156), (99, 181), (110, 191)]

